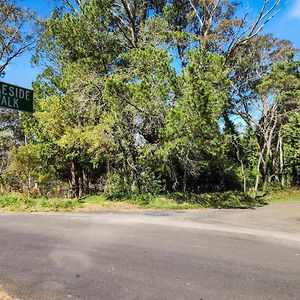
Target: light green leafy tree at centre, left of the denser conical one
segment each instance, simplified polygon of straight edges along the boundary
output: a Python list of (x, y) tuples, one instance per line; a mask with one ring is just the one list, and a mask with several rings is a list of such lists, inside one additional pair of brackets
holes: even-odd
[(124, 178), (127, 192), (147, 192), (147, 176), (161, 175), (150, 161), (159, 147), (172, 95), (177, 94), (177, 76), (167, 52), (153, 46), (130, 50), (124, 61), (126, 67), (108, 78), (104, 89), (121, 155), (120, 164), (113, 167)]

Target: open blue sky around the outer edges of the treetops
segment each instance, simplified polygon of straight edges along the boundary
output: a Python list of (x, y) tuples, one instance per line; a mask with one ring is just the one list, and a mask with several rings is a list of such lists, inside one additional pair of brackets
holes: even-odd
[[(241, 0), (243, 9), (252, 12), (253, 15), (259, 11), (263, 0)], [(273, 2), (275, 0), (271, 0)], [(283, 0), (284, 1), (284, 0)], [(47, 17), (53, 7), (51, 0), (22, 0), (20, 6), (31, 8), (37, 15)], [(292, 41), (294, 47), (300, 49), (300, 0), (290, 0), (281, 11), (265, 26), (264, 33), (272, 33), (278, 38)], [(27, 52), (15, 59), (6, 69), (2, 81), (31, 88), (32, 82), (41, 72), (39, 68), (31, 65), (32, 53)]]

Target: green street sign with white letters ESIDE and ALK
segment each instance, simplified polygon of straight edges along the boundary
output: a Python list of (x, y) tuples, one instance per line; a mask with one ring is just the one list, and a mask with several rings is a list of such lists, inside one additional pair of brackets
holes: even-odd
[(33, 90), (0, 81), (0, 106), (33, 112)]

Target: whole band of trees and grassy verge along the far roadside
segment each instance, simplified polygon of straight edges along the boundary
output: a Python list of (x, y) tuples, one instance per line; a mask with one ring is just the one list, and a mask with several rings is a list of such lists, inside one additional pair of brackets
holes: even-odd
[(42, 20), (1, 1), (7, 64), (29, 47), (41, 70), (34, 113), (0, 112), (2, 209), (250, 207), (299, 186), (299, 53), (263, 34), (283, 3), (261, 2), (58, 0)]

